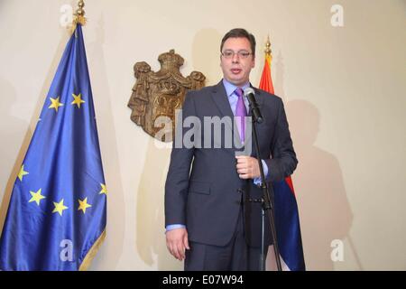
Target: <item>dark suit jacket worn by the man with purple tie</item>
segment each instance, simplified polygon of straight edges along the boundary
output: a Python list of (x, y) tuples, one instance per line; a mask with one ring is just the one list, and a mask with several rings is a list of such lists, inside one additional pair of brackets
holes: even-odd
[[(281, 98), (261, 89), (255, 89), (255, 98), (261, 107), (264, 121), (257, 126), (260, 155), (268, 165), (267, 182), (281, 181), (291, 175), (298, 163), (291, 142), (291, 134)], [(182, 108), (182, 117), (198, 117), (201, 125), (183, 127), (177, 123), (179, 135), (194, 140), (193, 147), (181, 145), (180, 137), (174, 141), (171, 164), (165, 184), (165, 226), (185, 224), (189, 240), (216, 246), (225, 246), (235, 233), (240, 210), (244, 210), (245, 238), (250, 246), (261, 244), (261, 204), (245, 202), (247, 198), (259, 199), (262, 190), (253, 180), (242, 180), (235, 169), (236, 141), (226, 147), (226, 132), (234, 133), (234, 126), (221, 126), (221, 139), (214, 141), (215, 133), (204, 134), (212, 125), (204, 117), (234, 117), (222, 81), (212, 87), (189, 91)], [(183, 124), (185, 126), (185, 124)], [(235, 135), (238, 135), (236, 133)], [(252, 135), (246, 135), (247, 141)], [(239, 138), (236, 138), (239, 140)], [(217, 144), (220, 148), (208, 148)], [(206, 145), (208, 146), (208, 145)], [(252, 156), (256, 156), (254, 142)], [(191, 166), (191, 170), (190, 170)], [(269, 228), (266, 221), (266, 228)], [(269, 229), (266, 243), (272, 243)]]

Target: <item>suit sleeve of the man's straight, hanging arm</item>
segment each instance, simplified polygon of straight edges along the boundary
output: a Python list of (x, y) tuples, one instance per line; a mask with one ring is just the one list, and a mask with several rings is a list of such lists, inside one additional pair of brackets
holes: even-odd
[[(183, 103), (182, 116), (176, 123), (176, 134), (172, 144), (171, 163), (165, 183), (165, 227), (171, 224), (186, 224), (186, 202), (189, 190), (189, 172), (193, 160), (194, 147), (185, 145), (183, 137), (192, 129), (183, 127), (186, 117), (195, 116), (195, 106), (191, 92)], [(181, 137), (181, 139), (179, 139)], [(190, 147), (191, 146), (191, 147)]]

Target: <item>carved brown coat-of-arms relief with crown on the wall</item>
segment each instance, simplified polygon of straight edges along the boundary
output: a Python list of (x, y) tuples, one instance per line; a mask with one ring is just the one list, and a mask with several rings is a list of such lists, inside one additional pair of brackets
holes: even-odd
[(161, 70), (154, 72), (142, 61), (134, 65), (136, 79), (128, 107), (131, 119), (143, 130), (162, 142), (171, 142), (175, 132), (175, 110), (182, 107), (189, 90), (204, 87), (206, 77), (193, 71), (188, 77), (180, 74), (183, 58), (174, 50), (162, 53)]

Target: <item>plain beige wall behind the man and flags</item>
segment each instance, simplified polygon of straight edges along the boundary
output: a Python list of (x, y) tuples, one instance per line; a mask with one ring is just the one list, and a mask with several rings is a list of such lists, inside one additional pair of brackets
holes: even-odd
[[(69, 37), (71, 0), (0, 1), (0, 220)], [(133, 65), (174, 48), (184, 75), (221, 77), (219, 41), (234, 27), (272, 39), (272, 76), (300, 164), (293, 182), (309, 269), (406, 269), (406, 2), (401, 0), (87, 0), (84, 29), (108, 194), (107, 238), (92, 270), (181, 269), (163, 230), (170, 149), (130, 120)], [(344, 7), (344, 27), (330, 7)], [(330, 243), (344, 242), (332, 262)]]

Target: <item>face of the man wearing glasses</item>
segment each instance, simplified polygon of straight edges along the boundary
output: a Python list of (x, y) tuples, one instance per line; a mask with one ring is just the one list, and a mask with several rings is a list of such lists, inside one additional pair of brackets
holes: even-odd
[[(224, 54), (234, 51), (234, 55), (227, 58)], [(240, 51), (238, 53), (238, 51)], [(224, 42), (223, 55), (220, 56), (220, 66), (226, 80), (235, 86), (242, 86), (249, 81), (250, 72), (254, 69), (255, 58), (251, 51), (251, 45), (246, 38), (228, 38)], [(246, 52), (250, 53), (246, 58)]]

